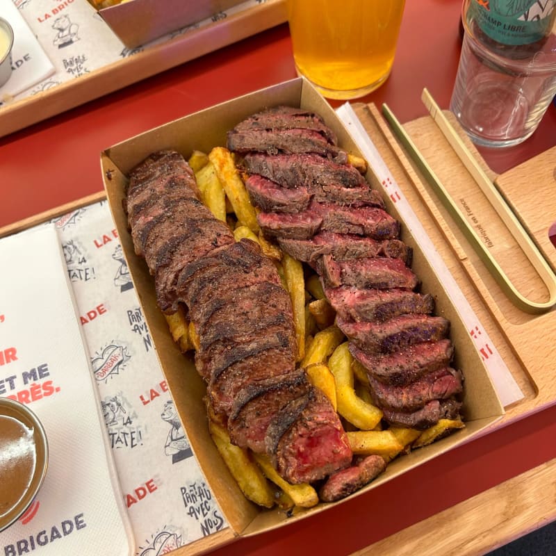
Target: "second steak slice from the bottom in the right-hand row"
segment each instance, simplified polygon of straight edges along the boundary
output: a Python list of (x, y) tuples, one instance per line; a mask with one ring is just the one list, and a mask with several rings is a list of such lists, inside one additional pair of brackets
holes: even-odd
[(416, 411), (432, 400), (451, 398), (463, 391), (461, 373), (449, 367), (432, 370), (407, 386), (383, 384), (368, 373), (375, 405), (392, 411)]

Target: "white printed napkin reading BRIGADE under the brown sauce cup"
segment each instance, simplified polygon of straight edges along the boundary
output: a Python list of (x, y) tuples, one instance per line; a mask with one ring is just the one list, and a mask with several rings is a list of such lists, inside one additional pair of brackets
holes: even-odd
[(126, 556), (133, 536), (54, 225), (0, 240), (0, 395), (28, 404), (49, 441), (42, 488), (0, 553)]

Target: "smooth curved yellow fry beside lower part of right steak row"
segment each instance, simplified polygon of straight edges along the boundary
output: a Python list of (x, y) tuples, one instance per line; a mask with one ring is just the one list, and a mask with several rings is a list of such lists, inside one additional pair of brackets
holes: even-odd
[(372, 431), (382, 419), (382, 410), (361, 400), (354, 391), (354, 375), (351, 369), (352, 355), (347, 342), (336, 347), (328, 360), (328, 366), (336, 381), (338, 414), (363, 431)]

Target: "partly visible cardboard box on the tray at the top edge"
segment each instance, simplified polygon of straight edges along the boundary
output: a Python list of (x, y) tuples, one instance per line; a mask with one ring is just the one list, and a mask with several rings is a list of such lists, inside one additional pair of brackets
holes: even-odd
[(128, 48), (216, 15), (244, 0), (131, 0), (99, 10)]

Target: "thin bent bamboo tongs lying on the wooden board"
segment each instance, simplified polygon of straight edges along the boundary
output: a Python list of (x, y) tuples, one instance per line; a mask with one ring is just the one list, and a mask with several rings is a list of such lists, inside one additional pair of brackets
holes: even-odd
[(471, 224), (467, 222), (457, 204), (444, 188), (443, 184), (433, 172), (430, 165), (428, 165), (427, 161), (425, 161), (423, 155), (420, 154), (416, 145), (404, 130), (402, 124), (398, 122), (386, 104), (382, 106), (384, 117), (386, 117), (386, 120), (389, 122), (393, 131), (398, 136), (398, 139), (402, 142), (405, 149), (407, 149), (407, 152), (419, 167), (420, 171), (423, 172), (423, 175), (430, 183), (430, 186), (434, 188), (436, 195), (439, 196), (445, 208), (450, 212), (450, 215), (457, 223), (459, 229), (464, 233), (469, 243), (473, 246), (475, 252), (477, 252), (480, 256), (481, 261), (484, 263), (486, 268), (489, 269), (491, 275), (493, 275), (500, 288), (502, 288), (502, 291), (504, 291), (507, 297), (509, 297), (509, 300), (511, 300), (519, 309), (527, 313), (538, 314), (550, 311), (550, 309), (556, 305), (556, 276), (553, 270), (550, 268), (541, 252), (539, 252), (537, 246), (533, 243), (529, 234), (521, 225), (521, 222), (519, 222), (516, 215), (512, 212), (511, 208), (509, 208), (502, 195), (500, 195), (495, 184), (491, 181), (491, 179), (489, 179), (488, 176), (486, 176), (479, 163), (475, 160), (473, 154), (471, 154), (469, 149), (457, 134), (457, 131), (455, 131), (450, 122), (448, 122), (448, 119), (445, 117), (427, 89), (423, 90), (421, 99), (423, 99), (423, 103), (430, 112), (430, 115), (436, 125), (439, 126), (443, 136), (446, 140), (448, 140), (450, 146), (454, 149), (454, 152), (457, 154), (473, 179), (475, 179), (477, 185), (489, 200), (490, 204), (500, 215), (502, 222), (504, 222), (505, 226), (521, 247), (521, 250), (523, 250), (523, 253), (527, 256), (534, 269), (537, 270), (539, 277), (541, 277), (548, 290), (548, 301), (533, 302), (517, 291), (514, 284), (512, 284), (512, 281), (510, 281), (509, 277), (507, 277), (504, 270), (500, 268), (496, 259), (494, 259), (491, 253), (489, 253), (489, 250), (480, 239), (480, 236), (477, 235), (475, 229), (471, 227)]

